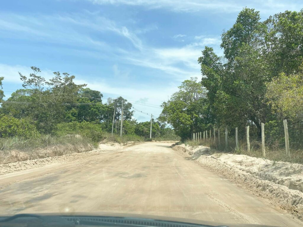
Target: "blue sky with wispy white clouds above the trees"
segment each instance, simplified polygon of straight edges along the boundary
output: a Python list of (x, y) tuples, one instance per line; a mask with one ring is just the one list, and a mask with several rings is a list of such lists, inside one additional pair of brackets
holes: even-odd
[[(222, 55), (220, 35), (245, 6), (259, 10), (264, 20), (299, 11), (303, 1), (1, 1), (5, 98), (21, 88), (18, 71), (28, 75), (30, 66), (37, 66), (46, 78), (53, 71), (68, 72), (104, 97), (125, 97), (157, 117), (156, 107), (182, 81), (201, 79), (197, 59), (205, 45)], [(138, 111), (134, 117), (149, 119)]]

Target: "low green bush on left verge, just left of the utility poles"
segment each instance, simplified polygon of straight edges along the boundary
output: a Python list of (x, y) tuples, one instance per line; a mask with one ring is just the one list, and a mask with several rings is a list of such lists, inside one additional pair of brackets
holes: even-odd
[(67, 134), (79, 134), (87, 137), (94, 142), (98, 142), (102, 139), (102, 127), (98, 123), (92, 122), (69, 122), (57, 124), (57, 134), (59, 136), (65, 136)]

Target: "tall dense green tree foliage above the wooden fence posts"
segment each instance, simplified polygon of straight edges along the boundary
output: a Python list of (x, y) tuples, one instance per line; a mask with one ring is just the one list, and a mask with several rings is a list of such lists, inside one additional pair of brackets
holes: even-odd
[[(291, 92), (287, 92), (288, 97), (277, 99), (283, 90), (289, 89), (278, 88), (277, 84), (289, 83), (291, 75), (300, 71), (302, 21), (302, 10), (278, 13), (262, 22), (258, 11), (244, 8), (232, 28), (222, 34), (225, 59), (219, 58), (212, 48), (205, 47), (198, 63), (210, 105), (208, 122), (212, 122), (213, 127), (244, 128), (252, 123), (258, 128), (257, 136), (260, 137), (261, 122), (275, 121), (274, 112), (278, 110), (277, 105), (281, 107), (281, 102), (288, 102), (283, 108), (288, 109), (289, 120), (298, 115), (300, 108), (294, 108), (292, 113), (289, 111), (293, 104), (302, 106), (300, 100), (290, 102), (290, 99), (295, 101), (296, 95), (300, 96), (299, 76), (292, 79), (293, 85), (298, 83), (292, 97)], [(285, 115), (286, 109), (280, 108), (279, 113)]]

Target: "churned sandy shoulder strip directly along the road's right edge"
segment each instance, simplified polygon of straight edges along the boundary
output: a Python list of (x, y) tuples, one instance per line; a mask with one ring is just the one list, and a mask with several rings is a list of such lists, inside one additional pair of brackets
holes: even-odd
[[(190, 149), (188, 146), (182, 144), (172, 146), (172, 149), (182, 156), (202, 165), (211, 172), (217, 173), (231, 182), (236, 183), (252, 194), (267, 199), (272, 205), (278, 206), (299, 220), (302, 220), (303, 193), (300, 190), (290, 189), (285, 185), (279, 184), (281, 182), (275, 181), (274, 179), (266, 179), (262, 174), (254, 174), (249, 168), (243, 168), (243, 165), (242, 168), (239, 168), (238, 165), (232, 165), (224, 160), (224, 158), (220, 158), (222, 154), (208, 155), (208, 148), (204, 146)], [(241, 155), (241, 157), (237, 157), (239, 155), (232, 156), (234, 156), (233, 158), (238, 158), (239, 162), (245, 159), (243, 155)], [(278, 166), (275, 166), (275, 168), (277, 169)]]

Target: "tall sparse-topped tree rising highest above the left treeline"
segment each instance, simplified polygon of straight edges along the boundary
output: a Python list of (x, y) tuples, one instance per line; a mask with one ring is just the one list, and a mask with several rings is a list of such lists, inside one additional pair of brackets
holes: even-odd
[[(54, 72), (54, 77), (46, 81), (39, 76), (41, 72), (38, 67), (31, 67), (33, 73), (29, 77), (23, 76), (20, 72), (22, 86), (26, 88), (27, 94), (18, 94), (12, 97), (12, 100), (27, 99), (30, 103), (23, 108), (28, 117), (31, 117), (37, 124), (37, 129), (43, 133), (53, 133), (58, 123), (65, 120), (66, 106), (72, 107), (72, 103), (77, 102), (78, 93), (86, 84), (75, 84), (75, 76), (69, 76), (68, 73)], [(45, 85), (48, 87), (45, 88)], [(23, 90), (25, 91), (25, 90)], [(71, 108), (72, 109), (72, 108)], [(20, 112), (19, 111), (19, 112)], [(18, 113), (18, 111), (17, 111)]]

